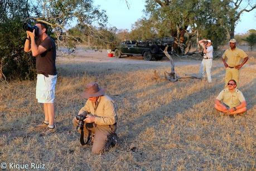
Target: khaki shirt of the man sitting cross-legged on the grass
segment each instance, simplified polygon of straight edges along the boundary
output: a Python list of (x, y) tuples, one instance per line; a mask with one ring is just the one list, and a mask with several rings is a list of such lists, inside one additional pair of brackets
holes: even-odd
[(238, 89), (235, 89), (234, 92), (229, 91), (229, 89), (222, 90), (216, 99), (224, 102), (230, 108), (236, 107), (240, 105), (240, 102), (245, 101), (243, 93)]

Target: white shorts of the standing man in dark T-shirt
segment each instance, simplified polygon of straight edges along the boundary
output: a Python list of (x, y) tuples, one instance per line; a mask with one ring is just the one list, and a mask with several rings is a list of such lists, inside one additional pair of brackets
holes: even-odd
[(46, 77), (42, 74), (37, 74), (36, 99), (38, 102), (54, 102), (56, 82), (57, 75), (49, 75), (49, 77)]

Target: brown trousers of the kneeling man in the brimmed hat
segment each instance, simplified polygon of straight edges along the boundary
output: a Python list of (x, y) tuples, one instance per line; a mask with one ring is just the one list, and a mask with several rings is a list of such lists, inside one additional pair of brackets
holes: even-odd
[[(73, 125), (78, 126), (78, 120), (73, 119)], [(91, 149), (92, 153), (101, 154), (104, 153), (112, 144), (111, 137), (117, 136), (115, 130), (117, 125), (97, 125), (95, 123), (84, 124), (84, 138), (88, 137), (89, 131), (94, 134), (93, 148)], [(81, 134), (81, 130), (79, 130)], [(85, 140), (86, 142), (86, 140)]]

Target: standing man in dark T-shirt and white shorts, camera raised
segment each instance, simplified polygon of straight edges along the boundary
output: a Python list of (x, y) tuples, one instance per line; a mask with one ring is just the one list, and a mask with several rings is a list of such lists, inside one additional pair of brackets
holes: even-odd
[(45, 120), (36, 127), (46, 128), (46, 133), (52, 133), (55, 131), (56, 46), (54, 40), (47, 35), (47, 26), (45, 23), (38, 22), (33, 28), (33, 32), (27, 31), (24, 51), (31, 51), (32, 55), (36, 57), (36, 99), (39, 103), (44, 104)]

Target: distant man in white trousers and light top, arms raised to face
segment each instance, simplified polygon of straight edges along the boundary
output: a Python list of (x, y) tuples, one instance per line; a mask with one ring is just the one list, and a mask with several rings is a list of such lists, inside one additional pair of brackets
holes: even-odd
[(207, 81), (211, 82), (211, 65), (212, 65), (212, 52), (213, 47), (211, 46), (211, 40), (200, 40), (198, 42), (203, 49), (202, 56), (204, 57), (201, 62), (199, 76), (202, 77), (206, 71)]

